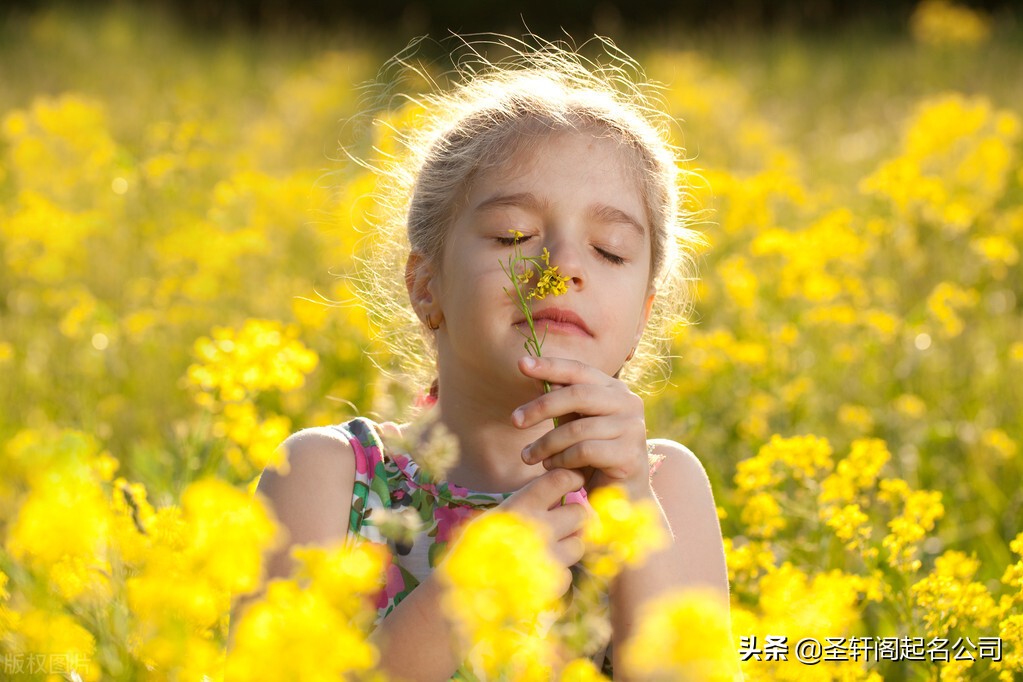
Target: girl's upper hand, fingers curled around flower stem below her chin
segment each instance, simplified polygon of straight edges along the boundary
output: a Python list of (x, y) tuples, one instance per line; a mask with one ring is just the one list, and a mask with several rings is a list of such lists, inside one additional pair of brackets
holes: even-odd
[[(532, 361), (532, 362), (531, 362)], [(623, 381), (599, 369), (565, 358), (522, 358), (522, 373), (560, 388), (520, 406), (511, 421), (520, 428), (559, 417), (557, 428), (523, 451), (530, 464), (544, 468), (592, 470), (590, 490), (610, 484), (632, 499), (650, 497), (650, 460), (642, 400)]]

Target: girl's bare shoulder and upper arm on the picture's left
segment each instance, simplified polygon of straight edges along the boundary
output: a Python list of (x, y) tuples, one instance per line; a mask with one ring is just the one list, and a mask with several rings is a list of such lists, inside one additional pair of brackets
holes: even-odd
[(256, 489), (287, 534), (287, 546), (270, 562), (275, 576), (287, 575), (292, 545), (345, 539), (355, 479), (352, 446), (336, 428), (305, 428), (280, 448), (287, 464), (266, 468)]

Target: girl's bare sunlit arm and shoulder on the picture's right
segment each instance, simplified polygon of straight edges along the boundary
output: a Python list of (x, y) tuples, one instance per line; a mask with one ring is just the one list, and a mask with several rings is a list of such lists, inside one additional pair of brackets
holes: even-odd
[[(724, 543), (707, 473), (681, 445), (665, 440), (652, 443), (654, 453), (664, 455), (664, 461), (651, 481), (651, 496), (661, 509), (669, 541), (643, 564), (625, 569), (611, 585), (616, 673), (624, 670), (620, 663), (625, 642), (648, 600), (677, 588), (710, 587), (720, 594), (722, 605), (728, 606)], [(738, 653), (735, 672), (739, 674)]]

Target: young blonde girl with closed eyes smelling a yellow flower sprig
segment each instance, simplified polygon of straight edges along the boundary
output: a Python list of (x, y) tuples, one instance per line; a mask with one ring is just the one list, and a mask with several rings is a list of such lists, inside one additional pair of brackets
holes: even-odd
[[(647, 439), (643, 402), (619, 378), (639, 375), (658, 332), (691, 302), (697, 236), (681, 215), (679, 160), (670, 122), (622, 66), (544, 46), (464, 71), (452, 91), (420, 103), (405, 165), (388, 172), (407, 237), (397, 278), (406, 312), (389, 319), (421, 322), (419, 355), (435, 379), (420, 421), (443, 424), (459, 457), (446, 481), (432, 481), (414, 444), (394, 445), (407, 426), (358, 418), (287, 439), (290, 473), (267, 470), (259, 490), (293, 545), (385, 541), (374, 511), (420, 512), (427, 527), (413, 542), (390, 543), (373, 634), (384, 671), (412, 680), (449, 679), (469, 654), (450, 646), (434, 573), (459, 525), (493, 508), (531, 517), (549, 529), (567, 574), (582, 556), (586, 510), (565, 496), (617, 484), (654, 501), (670, 542), (611, 585), (610, 672), (644, 602), (684, 586), (727, 601), (707, 475), (683, 446)], [(525, 319), (505, 293), (510, 230), (526, 255), (546, 248), (567, 278), (564, 294), (532, 303), (545, 330), (540, 359), (524, 352)], [(271, 557), (271, 577), (288, 574), (288, 550)]]

